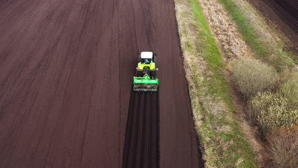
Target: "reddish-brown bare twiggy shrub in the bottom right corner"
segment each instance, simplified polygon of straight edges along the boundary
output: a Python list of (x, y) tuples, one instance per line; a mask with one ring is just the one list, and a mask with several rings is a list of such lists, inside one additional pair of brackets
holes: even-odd
[(298, 167), (298, 129), (275, 129), (267, 136), (267, 151), (275, 167)]

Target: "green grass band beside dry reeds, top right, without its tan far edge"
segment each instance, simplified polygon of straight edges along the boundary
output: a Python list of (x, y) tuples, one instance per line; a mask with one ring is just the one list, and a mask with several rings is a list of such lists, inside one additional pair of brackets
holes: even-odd
[(248, 14), (243, 12), (243, 9), (237, 6), (233, 0), (220, 0), (220, 3), (236, 23), (238, 31), (242, 35), (243, 40), (249, 44), (255, 58), (272, 65), (278, 72), (285, 67), (292, 68), (295, 63), (298, 63), (298, 60), (287, 49), (285, 44), (282, 42), (274, 44), (274, 39), (264, 36), (264, 34), (258, 31), (258, 29), (263, 29), (268, 32), (264, 26), (260, 28), (252, 24), (249, 16), (247, 16)]

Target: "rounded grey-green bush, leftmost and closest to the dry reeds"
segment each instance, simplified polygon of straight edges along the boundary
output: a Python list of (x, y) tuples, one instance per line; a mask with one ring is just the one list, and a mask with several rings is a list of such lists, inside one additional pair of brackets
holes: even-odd
[(235, 60), (232, 72), (234, 81), (245, 98), (273, 89), (278, 79), (278, 74), (272, 67), (249, 59)]

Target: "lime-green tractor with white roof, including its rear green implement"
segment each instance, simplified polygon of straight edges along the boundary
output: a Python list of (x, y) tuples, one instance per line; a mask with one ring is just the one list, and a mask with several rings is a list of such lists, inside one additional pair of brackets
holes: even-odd
[(157, 78), (157, 54), (153, 52), (138, 53), (138, 64), (133, 77), (133, 91), (157, 92), (159, 79)]

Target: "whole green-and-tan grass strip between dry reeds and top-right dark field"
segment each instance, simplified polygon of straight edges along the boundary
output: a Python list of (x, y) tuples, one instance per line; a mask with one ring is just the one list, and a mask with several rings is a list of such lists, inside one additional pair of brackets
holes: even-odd
[(254, 57), (272, 65), (278, 72), (283, 68), (293, 68), (298, 63), (297, 56), (289, 50), (289, 40), (268, 25), (265, 18), (249, 3), (243, 0), (218, 0), (236, 23), (243, 40), (249, 44)]

